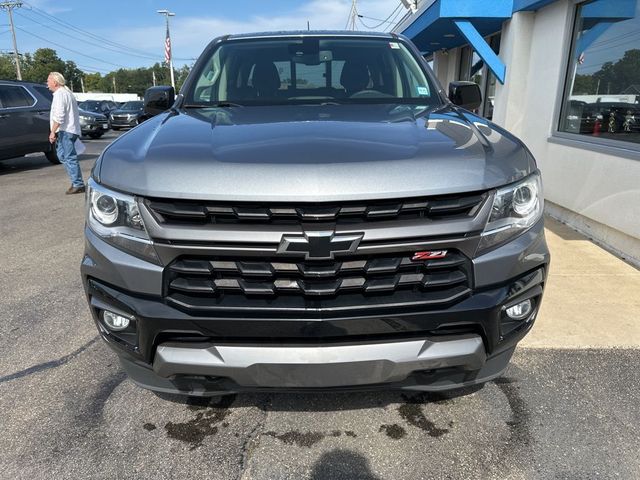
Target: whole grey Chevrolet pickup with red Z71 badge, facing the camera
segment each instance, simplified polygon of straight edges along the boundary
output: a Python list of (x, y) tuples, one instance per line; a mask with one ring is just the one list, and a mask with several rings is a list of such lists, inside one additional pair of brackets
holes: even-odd
[(214, 40), (93, 169), (102, 338), (139, 385), (188, 395), (500, 375), (549, 252), (536, 162), (461, 108), (480, 101), (395, 34)]

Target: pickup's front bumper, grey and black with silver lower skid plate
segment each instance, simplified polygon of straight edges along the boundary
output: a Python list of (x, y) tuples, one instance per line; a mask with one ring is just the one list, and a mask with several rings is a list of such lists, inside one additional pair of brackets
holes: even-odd
[[(102, 337), (129, 376), (146, 388), (190, 395), (445, 390), (502, 373), (533, 326), (548, 262), (540, 221), (473, 259), (473, 291), (447, 308), (327, 312), (312, 318), (246, 312), (191, 316), (163, 299), (162, 267), (112, 247), (90, 230), (82, 276)], [(509, 321), (506, 307), (526, 299), (532, 300), (533, 313)], [(104, 309), (135, 317), (135, 328), (110, 332), (100, 317)]]

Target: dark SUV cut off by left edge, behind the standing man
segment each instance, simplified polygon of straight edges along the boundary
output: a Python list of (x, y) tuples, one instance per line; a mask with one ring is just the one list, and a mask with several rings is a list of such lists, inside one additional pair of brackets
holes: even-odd
[(46, 85), (0, 80), (0, 160), (42, 152), (60, 163), (49, 143), (52, 98)]

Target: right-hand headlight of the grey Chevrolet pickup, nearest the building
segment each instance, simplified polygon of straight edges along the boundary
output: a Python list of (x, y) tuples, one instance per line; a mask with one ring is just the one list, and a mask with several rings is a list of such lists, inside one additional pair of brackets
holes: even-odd
[(524, 233), (542, 217), (543, 206), (542, 181), (537, 172), (521, 182), (498, 190), (478, 252)]

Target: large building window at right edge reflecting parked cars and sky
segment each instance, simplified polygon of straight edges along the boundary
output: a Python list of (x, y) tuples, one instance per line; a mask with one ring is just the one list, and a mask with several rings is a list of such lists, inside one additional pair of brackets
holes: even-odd
[(578, 6), (559, 131), (640, 143), (640, 0)]

